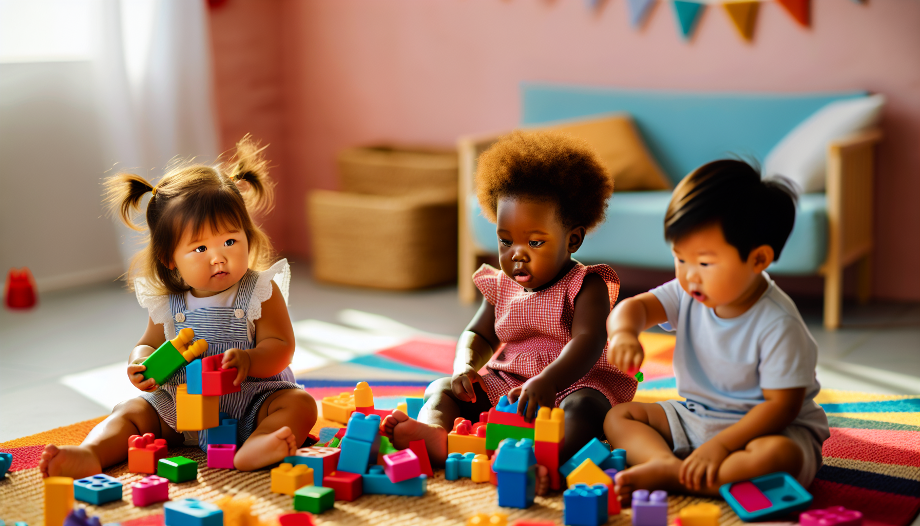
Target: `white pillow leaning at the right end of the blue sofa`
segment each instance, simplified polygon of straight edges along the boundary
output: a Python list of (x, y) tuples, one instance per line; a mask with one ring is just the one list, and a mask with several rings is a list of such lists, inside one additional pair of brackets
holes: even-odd
[(804, 193), (823, 192), (827, 145), (879, 123), (883, 95), (837, 100), (815, 111), (779, 141), (764, 161), (764, 176), (782, 175)]

